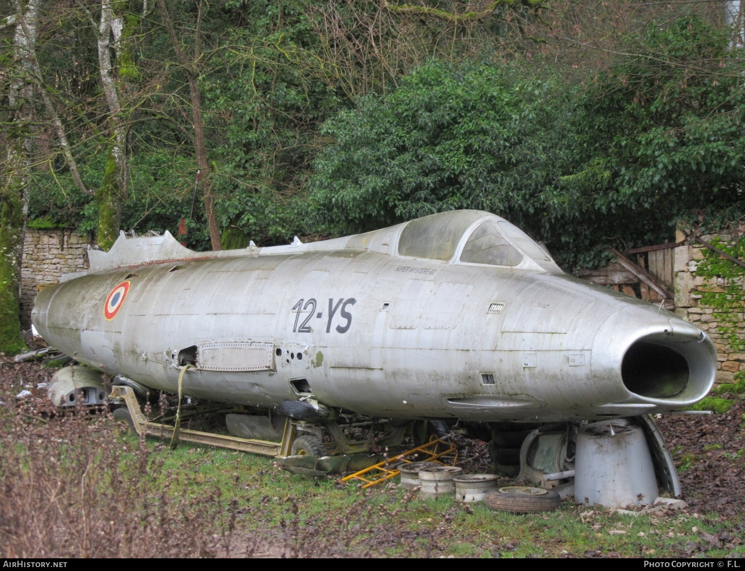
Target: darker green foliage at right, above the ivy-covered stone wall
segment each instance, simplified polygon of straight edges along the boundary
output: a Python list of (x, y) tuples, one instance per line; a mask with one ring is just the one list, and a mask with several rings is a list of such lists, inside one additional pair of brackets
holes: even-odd
[[(627, 39), (627, 55), (583, 96), (592, 156), (565, 191), (609, 216), (633, 213), (644, 240), (661, 240), (681, 217), (741, 216), (745, 70), (730, 38), (685, 16)], [(668, 223), (655, 236), (643, 232), (648, 220)]]

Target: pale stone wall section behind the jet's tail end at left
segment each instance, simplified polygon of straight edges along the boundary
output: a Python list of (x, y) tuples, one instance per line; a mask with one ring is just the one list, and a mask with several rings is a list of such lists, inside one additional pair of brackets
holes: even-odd
[(21, 267), (21, 326), (31, 327), (34, 298), (42, 287), (56, 284), (60, 275), (88, 267), (88, 236), (65, 229), (27, 229)]

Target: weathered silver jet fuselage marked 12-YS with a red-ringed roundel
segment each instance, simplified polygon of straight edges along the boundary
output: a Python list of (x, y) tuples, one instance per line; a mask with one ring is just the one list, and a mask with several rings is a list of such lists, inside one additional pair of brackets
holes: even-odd
[(469, 213), (447, 260), (402, 255), (406, 224), (201, 254), (170, 235), (122, 236), (92, 252), (89, 272), (42, 290), (34, 324), (107, 373), (174, 392), (194, 363), (185, 394), (269, 409), (312, 395), (377, 417), (547, 422), (706, 395), (706, 334), (551, 261), (463, 262), (474, 229), (501, 220)]

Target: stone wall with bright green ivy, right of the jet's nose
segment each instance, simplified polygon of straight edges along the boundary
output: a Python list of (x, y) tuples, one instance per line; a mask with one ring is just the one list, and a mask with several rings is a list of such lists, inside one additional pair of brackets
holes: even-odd
[[(745, 223), (735, 232), (701, 239), (735, 258), (745, 254)], [(678, 232), (677, 241), (685, 240)], [(674, 259), (677, 313), (706, 331), (717, 347), (717, 382), (745, 371), (745, 268), (702, 243), (678, 246)]]

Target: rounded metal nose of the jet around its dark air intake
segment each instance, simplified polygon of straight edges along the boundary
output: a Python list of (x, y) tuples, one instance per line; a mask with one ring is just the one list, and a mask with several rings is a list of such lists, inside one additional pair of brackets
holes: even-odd
[[(618, 365), (620, 364), (620, 371)], [(595, 374), (620, 373), (626, 395), (596, 408), (667, 412), (700, 401), (717, 372), (714, 343), (699, 328), (652, 307), (632, 305), (614, 313), (592, 348)]]

